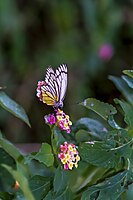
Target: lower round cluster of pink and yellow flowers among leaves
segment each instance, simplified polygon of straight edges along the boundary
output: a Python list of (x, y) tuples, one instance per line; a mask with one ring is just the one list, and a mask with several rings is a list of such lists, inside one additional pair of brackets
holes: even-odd
[(74, 144), (64, 142), (64, 145), (60, 145), (60, 151), (61, 153), (58, 154), (58, 158), (64, 165), (64, 170), (72, 170), (74, 166), (76, 168), (78, 167), (80, 156), (78, 155), (77, 147)]

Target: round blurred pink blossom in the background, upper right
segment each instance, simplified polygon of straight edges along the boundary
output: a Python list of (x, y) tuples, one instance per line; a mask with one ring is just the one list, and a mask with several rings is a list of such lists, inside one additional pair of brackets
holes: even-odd
[(109, 61), (114, 54), (113, 46), (109, 43), (102, 44), (99, 48), (98, 55), (101, 60)]

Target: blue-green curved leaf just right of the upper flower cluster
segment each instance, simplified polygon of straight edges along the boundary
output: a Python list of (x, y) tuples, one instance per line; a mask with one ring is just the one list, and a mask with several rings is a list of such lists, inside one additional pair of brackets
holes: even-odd
[[(107, 135), (106, 127), (100, 123), (98, 120), (90, 118), (81, 118), (73, 126), (72, 131), (76, 133), (79, 130), (85, 130), (86, 132), (80, 131), (85, 134), (85, 137), (90, 137), (92, 140), (103, 140)], [(87, 132), (88, 131), (88, 132)], [(88, 135), (88, 137), (87, 137)], [(76, 137), (79, 138), (79, 132), (76, 134)], [(82, 136), (80, 136), (82, 138)]]

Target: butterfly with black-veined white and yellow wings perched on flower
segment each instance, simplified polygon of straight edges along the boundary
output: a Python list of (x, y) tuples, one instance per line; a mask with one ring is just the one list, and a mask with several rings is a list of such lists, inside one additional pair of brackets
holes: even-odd
[(67, 89), (67, 65), (61, 64), (55, 71), (51, 67), (47, 68), (40, 89), (43, 103), (55, 109), (62, 108)]

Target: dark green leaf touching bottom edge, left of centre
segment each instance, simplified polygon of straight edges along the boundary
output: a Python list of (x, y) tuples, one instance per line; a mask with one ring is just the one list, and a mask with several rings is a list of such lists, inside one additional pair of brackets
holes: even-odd
[(50, 190), (50, 180), (35, 175), (29, 180), (29, 186), (36, 200), (43, 199)]

